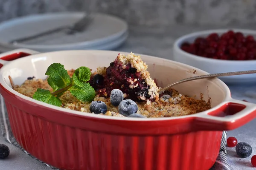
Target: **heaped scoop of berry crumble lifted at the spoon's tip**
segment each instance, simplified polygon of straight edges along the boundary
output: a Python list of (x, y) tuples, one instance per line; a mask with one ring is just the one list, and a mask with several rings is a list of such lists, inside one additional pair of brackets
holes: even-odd
[(113, 89), (120, 89), (134, 101), (158, 100), (158, 87), (147, 71), (148, 65), (140, 56), (118, 54), (108, 68), (97, 68), (90, 79), (97, 96), (109, 97)]

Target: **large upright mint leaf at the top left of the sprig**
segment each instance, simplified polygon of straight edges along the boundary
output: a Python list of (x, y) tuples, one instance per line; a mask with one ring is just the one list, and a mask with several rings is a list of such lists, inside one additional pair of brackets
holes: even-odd
[(51, 64), (45, 74), (50, 77), (50, 81), (52, 81), (58, 88), (64, 88), (72, 82), (64, 65), (60, 63)]

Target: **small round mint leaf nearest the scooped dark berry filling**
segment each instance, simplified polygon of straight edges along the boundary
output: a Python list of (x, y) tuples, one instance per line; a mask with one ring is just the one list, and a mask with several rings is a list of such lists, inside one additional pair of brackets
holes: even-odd
[(72, 79), (74, 80), (75, 84), (81, 86), (81, 83), (79, 83), (77, 80), (79, 80), (80, 82), (87, 82), (88, 80), (90, 80), (90, 75), (90, 68), (79, 67), (73, 74)]

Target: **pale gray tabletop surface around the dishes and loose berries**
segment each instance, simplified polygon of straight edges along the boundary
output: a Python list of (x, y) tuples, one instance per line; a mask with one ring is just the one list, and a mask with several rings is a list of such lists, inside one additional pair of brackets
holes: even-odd
[[(218, 26), (215, 26), (219, 28)], [(127, 42), (117, 51), (135, 52), (149, 54), (157, 57), (172, 59), (172, 44), (175, 39), (183, 34), (194, 31), (212, 29), (212, 26), (189, 27), (172, 26), (166, 28), (143, 28), (133, 27), (130, 30), (130, 37)], [(236, 28), (254, 29), (256, 26), (243, 26)], [(230, 86), (232, 96), (235, 99), (246, 99), (249, 102), (256, 103), (256, 85), (254, 86)], [(228, 132), (228, 136), (235, 136), (239, 142), (247, 142), (253, 147), (253, 154), (256, 154), (256, 119), (236, 130)], [(6, 144), (3, 137), (0, 136), (0, 143)], [(0, 170), (50, 170), (38, 161), (27, 156), (18, 148), (7, 144), (11, 149), (9, 159), (0, 160)], [(227, 159), (233, 170), (253, 170), (250, 164), (250, 158), (240, 159), (236, 157), (234, 148), (227, 148)]]

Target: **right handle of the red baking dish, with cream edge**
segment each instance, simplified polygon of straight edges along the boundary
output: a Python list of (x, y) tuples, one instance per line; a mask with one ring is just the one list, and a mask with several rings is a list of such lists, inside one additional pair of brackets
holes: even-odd
[(256, 104), (230, 98), (220, 108), (195, 116), (196, 130), (233, 130), (256, 117)]

